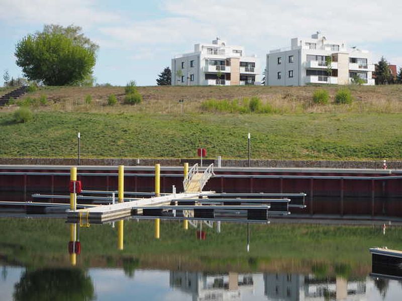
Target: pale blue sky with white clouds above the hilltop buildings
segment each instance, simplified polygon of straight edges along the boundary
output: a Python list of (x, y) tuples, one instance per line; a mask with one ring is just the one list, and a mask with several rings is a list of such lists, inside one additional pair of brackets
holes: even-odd
[(0, 74), (23, 75), (15, 45), (45, 24), (80, 26), (99, 45), (94, 68), (99, 84), (156, 85), (172, 57), (216, 37), (244, 46), (264, 65), (269, 50), (317, 31), (399, 68), (401, 17), (400, 0), (0, 0)]

